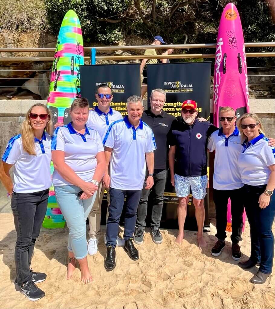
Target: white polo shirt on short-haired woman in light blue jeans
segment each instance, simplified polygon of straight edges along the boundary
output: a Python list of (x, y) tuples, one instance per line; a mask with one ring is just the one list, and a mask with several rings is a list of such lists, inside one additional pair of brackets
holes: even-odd
[[(96, 130), (85, 126), (85, 133), (75, 131), (71, 122), (54, 131), (52, 138), (52, 150), (65, 152), (65, 163), (84, 181), (92, 181), (97, 167), (96, 155), (104, 151), (101, 138)], [(71, 185), (57, 170), (53, 173), (54, 186)]]

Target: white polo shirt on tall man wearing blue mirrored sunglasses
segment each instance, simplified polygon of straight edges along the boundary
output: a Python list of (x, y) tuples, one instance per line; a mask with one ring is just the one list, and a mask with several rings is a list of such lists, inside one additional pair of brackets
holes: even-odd
[(120, 119), (122, 119), (121, 113), (115, 111), (113, 108), (110, 108), (110, 111), (105, 114), (104, 112), (101, 112), (98, 106), (96, 106), (94, 111), (90, 111), (86, 125), (88, 128), (97, 130), (103, 141), (109, 126), (114, 121)]

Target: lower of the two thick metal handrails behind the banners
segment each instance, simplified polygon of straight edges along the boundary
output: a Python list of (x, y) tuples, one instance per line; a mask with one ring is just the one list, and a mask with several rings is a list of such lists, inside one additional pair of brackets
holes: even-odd
[[(275, 53), (246, 53), (246, 57), (275, 57)], [(170, 55), (134, 55), (134, 56), (96, 56), (96, 60), (137, 60), (137, 59), (180, 59), (215, 58), (215, 54), (170, 54)], [(91, 57), (84, 57), (90, 60)], [(0, 61), (53, 61), (54, 57), (0, 57)]]

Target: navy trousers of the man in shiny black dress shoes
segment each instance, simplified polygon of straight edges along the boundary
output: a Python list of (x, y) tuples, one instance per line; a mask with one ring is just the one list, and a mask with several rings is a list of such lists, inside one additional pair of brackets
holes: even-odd
[(106, 226), (106, 246), (116, 246), (119, 219), (122, 213), (126, 196), (126, 211), (124, 217), (124, 240), (133, 237), (136, 222), (136, 210), (140, 201), (141, 190), (120, 190), (110, 188), (109, 217)]

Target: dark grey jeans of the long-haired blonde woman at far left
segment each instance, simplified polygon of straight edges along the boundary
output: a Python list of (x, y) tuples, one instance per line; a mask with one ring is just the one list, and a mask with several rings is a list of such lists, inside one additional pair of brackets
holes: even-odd
[(35, 241), (45, 218), (49, 189), (34, 193), (13, 193), (11, 209), (17, 233), (15, 243), (16, 281), (23, 285), (32, 277), (30, 265)]

